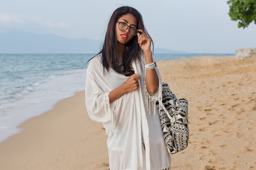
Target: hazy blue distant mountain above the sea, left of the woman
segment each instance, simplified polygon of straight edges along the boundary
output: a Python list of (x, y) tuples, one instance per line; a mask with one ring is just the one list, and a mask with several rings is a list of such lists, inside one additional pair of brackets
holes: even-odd
[(98, 53), (100, 45), (97, 40), (69, 39), (51, 33), (0, 33), (0, 53)]

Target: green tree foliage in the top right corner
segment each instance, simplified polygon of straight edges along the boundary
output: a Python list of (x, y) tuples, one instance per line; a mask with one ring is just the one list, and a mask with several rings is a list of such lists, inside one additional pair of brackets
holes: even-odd
[(229, 16), (239, 21), (238, 28), (247, 27), (253, 20), (256, 24), (256, 0), (229, 0)]

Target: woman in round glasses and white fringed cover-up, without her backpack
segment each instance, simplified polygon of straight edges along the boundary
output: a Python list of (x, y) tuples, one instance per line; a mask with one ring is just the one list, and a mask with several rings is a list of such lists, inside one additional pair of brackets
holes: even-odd
[(162, 82), (151, 42), (141, 14), (119, 7), (108, 23), (102, 50), (89, 60), (85, 104), (90, 118), (106, 129), (110, 170), (171, 169), (155, 114)]

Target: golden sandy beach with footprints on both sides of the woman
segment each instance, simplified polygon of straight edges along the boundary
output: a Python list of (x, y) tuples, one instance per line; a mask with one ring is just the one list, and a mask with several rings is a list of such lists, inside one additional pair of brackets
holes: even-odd
[[(162, 81), (189, 101), (189, 146), (173, 170), (256, 169), (256, 59), (185, 57), (157, 62)], [(0, 143), (0, 170), (109, 170), (107, 135), (84, 91), (18, 126)]]

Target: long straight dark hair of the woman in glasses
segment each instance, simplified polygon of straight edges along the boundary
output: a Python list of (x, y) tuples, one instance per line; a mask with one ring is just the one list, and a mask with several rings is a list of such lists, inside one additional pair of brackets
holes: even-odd
[[(130, 70), (130, 63), (135, 59), (141, 59), (140, 53), (143, 52), (138, 44), (138, 36), (135, 35), (132, 37), (132, 39), (126, 43), (126, 50), (123, 53), (123, 63), (124, 63), (124, 72), (121, 70), (121, 68), (118, 66), (118, 48), (117, 48), (117, 38), (116, 38), (116, 22), (117, 20), (128, 13), (131, 13), (135, 16), (137, 20), (137, 29), (142, 29), (150, 37), (148, 34), (143, 19), (141, 16), (141, 13), (137, 11), (137, 9), (124, 6), (117, 8), (111, 15), (110, 20), (108, 22), (108, 29), (106, 31), (106, 36), (104, 40), (103, 47), (101, 51), (97, 54), (99, 55), (101, 53), (101, 63), (103, 65), (103, 73), (105, 72), (105, 69), (109, 72), (109, 69), (112, 68), (117, 73), (125, 73), (126, 71)], [(151, 38), (151, 37), (150, 37)], [(151, 38), (152, 40), (152, 38)], [(154, 52), (154, 43), (152, 40), (152, 54)], [(97, 56), (95, 55), (95, 56)], [(94, 56), (94, 57), (95, 57)], [(92, 58), (94, 58), (92, 57)], [(90, 60), (92, 60), (92, 58)], [(88, 60), (88, 62), (90, 61)], [(139, 60), (140, 61), (140, 60)], [(141, 66), (141, 64), (140, 64)]]

